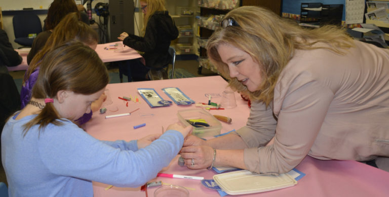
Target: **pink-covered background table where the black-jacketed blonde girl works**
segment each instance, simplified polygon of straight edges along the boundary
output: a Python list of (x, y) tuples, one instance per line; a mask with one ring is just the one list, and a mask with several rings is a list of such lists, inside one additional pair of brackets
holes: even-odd
[[(133, 48), (130, 48), (128, 46), (125, 47), (125, 49), (121, 52), (115, 52), (113, 50), (105, 50), (104, 47), (109, 47), (109, 45), (115, 44), (115, 43), (123, 43), (120, 42), (110, 42), (105, 44), (97, 44), (96, 47), (96, 53), (99, 55), (100, 59), (103, 62), (115, 62), (115, 61), (121, 61), (121, 60), (132, 60), (132, 59), (138, 59), (141, 58), (142, 63), (144, 64), (145, 61), (143, 57), (135, 51)], [(16, 50), (18, 51), (18, 50)], [(8, 67), (8, 71), (18, 71), (18, 70), (27, 70), (28, 64), (27, 64), (27, 54), (20, 54), (20, 56), (23, 58), (22, 63), (20, 63), (18, 66), (14, 67)]]

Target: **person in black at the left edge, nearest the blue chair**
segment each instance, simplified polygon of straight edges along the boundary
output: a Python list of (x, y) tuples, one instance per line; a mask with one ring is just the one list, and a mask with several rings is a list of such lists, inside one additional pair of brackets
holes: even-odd
[(0, 29), (0, 73), (8, 73), (6, 66), (17, 66), (20, 63), (22, 63), (22, 57), (12, 47), (7, 32)]

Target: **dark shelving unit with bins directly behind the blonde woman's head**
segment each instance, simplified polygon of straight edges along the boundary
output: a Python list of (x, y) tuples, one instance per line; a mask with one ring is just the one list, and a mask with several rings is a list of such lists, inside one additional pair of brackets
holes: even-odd
[[(216, 4), (218, 2), (218, 4)], [(219, 22), (223, 18), (223, 15), (230, 10), (240, 6), (262, 6), (266, 7), (277, 14), (281, 14), (281, 2), (282, 0), (235, 0), (235, 1), (212, 1), (212, 0), (199, 0), (199, 17), (198, 18), (198, 35), (197, 35), (197, 48), (199, 56), (199, 70), (201, 74), (202, 68), (207, 68), (213, 72), (218, 73), (213, 65), (210, 64), (207, 58), (207, 50), (205, 44), (209, 36), (212, 35), (215, 28), (219, 27)]]

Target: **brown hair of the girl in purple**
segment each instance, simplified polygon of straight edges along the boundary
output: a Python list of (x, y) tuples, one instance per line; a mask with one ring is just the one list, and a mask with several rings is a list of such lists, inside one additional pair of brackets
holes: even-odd
[(26, 75), (24, 76), (23, 83), (27, 81), (31, 73), (40, 66), (42, 58), (48, 51), (51, 51), (53, 48), (72, 39), (92, 45), (98, 43), (99, 36), (92, 27), (80, 21), (78, 13), (73, 12), (67, 14), (54, 28), (53, 33), (46, 41), (42, 50), (32, 58)]

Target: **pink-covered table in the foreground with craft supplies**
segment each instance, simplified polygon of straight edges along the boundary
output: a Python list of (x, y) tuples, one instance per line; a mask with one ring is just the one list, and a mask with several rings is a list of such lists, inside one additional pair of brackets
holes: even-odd
[[(141, 138), (151, 133), (161, 133), (162, 126), (166, 127), (178, 121), (177, 110), (193, 109), (191, 106), (177, 106), (150, 108), (137, 93), (137, 88), (154, 88), (162, 98), (170, 100), (161, 90), (165, 87), (178, 87), (195, 102), (205, 103), (208, 101), (206, 93), (219, 93), (226, 88), (225, 82), (220, 76), (169, 79), (158, 81), (143, 81), (131, 83), (108, 84), (110, 97), (113, 104), (106, 106), (107, 113), (104, 115), (95, 113), (86, 125), (86, 131), (92, 136), (102, 140), (132, 140)], [(126, 102), (118, 96), (137, 96), (140, 103)], [(212, 98), (212, 102), (219, 103), (221, 97)], [(249, 116), (247, 102), (244, 102), (236, 93), (237, 107), (225, 110), (211, 110), (213, 115), (223, 115), (232, 118), (232, 123), (222, 122), (221, 132), (239, 129), (244, 126)], [(130, 116), (105, 119), (105, 115), (128, 113), (140, 108)], [(118, 110), (118, 111), (116, 111)], [(116, 111), (116, 112), (111, 112)], [(134, 125), (146, 123), (146, 126), (133, 129)], [(213, 170), (189, 170), (177, 165), (178, 156), (173, 159), (168, 167), (161, 172), (182, 174), (191, 176), (203, 176), (211, 179), (216, 173)], [(157, 162), (157, 161), (156, 161)], [(298, 181), (298, 184), (275, 191), (263, 192), (260, 196), (387, 196), (389, 194), (389, 173), (355, 161), (322, 161), (307, 156), (297, 167), (297, 170), (306, 175)], [(131, 177), (129, 177), (131, 178)], [(214, 191), (205, 188), (198, 180), (157, 177), (150, 181), (162, 180), (162, 182), (177, 184), (194, 188), (189, 190), (190, 196), (219, 196)], [(112, 187), (105, 190), (107, 184), (94, 182), (94, 196), (145, 196), (145, 192), (138, 188)], [(158, 187), (148, 188), (148, 196)], [(258, 193), (238, 196), (259, 196)]]

